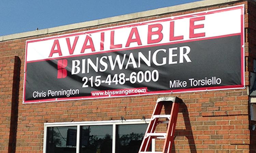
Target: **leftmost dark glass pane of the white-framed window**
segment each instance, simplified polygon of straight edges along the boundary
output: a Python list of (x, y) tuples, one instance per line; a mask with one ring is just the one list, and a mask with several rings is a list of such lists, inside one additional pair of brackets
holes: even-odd
[(75, 153), (76, 126), (47, 128), (46, 153)]

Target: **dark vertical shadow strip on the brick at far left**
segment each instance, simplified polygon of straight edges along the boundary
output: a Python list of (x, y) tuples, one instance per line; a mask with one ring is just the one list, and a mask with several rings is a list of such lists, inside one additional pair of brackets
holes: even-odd
[(15, 56), (14, 71), (13, 71), (13, 85), (12, 85), (12, 111), (10, 123), (10, 135), (8, 153), (15, 153), (16, 151), (16, 136), (17, 136), (17, 122), (18, 122), (18, 104), (19, 104), (19, 83), (20, 83), (20, 58)]

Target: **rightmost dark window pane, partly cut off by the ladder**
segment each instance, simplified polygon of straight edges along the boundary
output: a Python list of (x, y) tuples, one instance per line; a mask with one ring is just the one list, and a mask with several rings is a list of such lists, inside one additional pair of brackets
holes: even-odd
[(139, 152), (147, 124), (116, 126), (116, 153)]

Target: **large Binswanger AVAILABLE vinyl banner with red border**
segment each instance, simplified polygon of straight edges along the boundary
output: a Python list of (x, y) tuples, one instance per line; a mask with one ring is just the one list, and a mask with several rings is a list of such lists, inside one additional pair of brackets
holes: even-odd
[(24, 103), (244, 88), (244, 6), (28, 40)]

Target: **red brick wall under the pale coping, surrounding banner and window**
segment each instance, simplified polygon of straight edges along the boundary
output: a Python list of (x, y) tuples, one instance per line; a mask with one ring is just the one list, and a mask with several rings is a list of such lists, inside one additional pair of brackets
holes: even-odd
[[(249, 71), (252, 71), (252, 64), (250, 63), (251, 60), (248, 60), (248, 56), (250, 53), (249, 48), (254, 48), (255, 51), (255, 44), (253, 45), (253, 43), (250, 42), (249, 45), (248, 43), (247, 8), (250, 9), (252, 13), (255, 11), (255, 6), (248, 6), (247, 1), (234, 4), (230, 3), (221, 6), (216, 5), (191, 11), (165, 14), (161, 16), (142, 18), (132, 21), (124, 21), (120, 23), (112, 23), (97, 27), (55, 33), (51, 35), (59, 35), (64, 33), (72, 33), (109, 26), (116, 26), (130, 22), (138, 22), (167, 16), (211, 10), (214, 8), (227, 7), (237, 4), (245, 4), (246, 8), (245, 79), (248, 88)], [(253, 3), (250, 3), (250, 5), (251, 4)], [(255, 28), (255, 16), (250, 15), (249, 18), (249, 24), (254, 24)], [(250, 34), (252, 32), (254, 32), (255, 34), (255, 31), (250, 30)], [(177, 96), (184, 101), (184, 104), (181, 105), (179, 117), (177, 120), (175, 145), (172, 152), (245, 153), (249, 152), (250, 149), (255, 149), (255, 147), (252, 147), (252, 145), (250, 148), (250, 143), (255, 144), (255, 138), (253, 138), (255, 136), (255, 133), (253, 133), (252, 131), (250, 133), (249, 130), (247, 89), (99, 99), (97, 101), (80, 100), (68, 102), (22, 104), (25, 40), (47, 37), (51, 35), (43, 35), (0, 42), (0, 61), (1, 59), (3, 59), (4, 61), (3, 63), (1, 63), (3, 65), (0, 67), (0, 105), (2, 106), (0, 110), (0, 127), (2, 127), (0, 129), (0, 153), (8, 152), (10, 135), (9, 131), (10, 129), (12, 129), (10, 127), (10, 118), (12, 114), (11, 101), (13, 93), (12, 77), (14, 64), (11, 63), (10, 69), (12, 70), (10, 71), (8, 69), (8, 63), (10, 63), (9, 61), (11, 61), (11, 59), (9, 61), (8, 59), (13, 57), (13, 55), (17, 55), (21, 60), (21, 81), (19, 83), (18, 105), (16, 105), (18, 106), (17, 134), (16, 138), (12, 140), (12, 144), (16, 142), (16, 153), (43, 152), (43, 125), (46, 122), (97, 121), (111, 119), (119, 120), (121, 116), (124, 116), (125, 119), (141, 119), (142, 116), (150, 118), (153, 112), (155, 101), (158, 97), (161, 96)], [(6, 64), (6, 66), (4, 64)], [(6, 82), (6, 84), (2, 84), (2, 82), (5, 81), (7, 81), (8, 83)], [(5, 86), (8, 86), (8, 88), (5, 88)], [(160, 128), (160, 130), (165, 130), (165, 128)], [(15, 129), (13, 131), (15, 132)], [(161, 146), (158, 145), (157, 149), (160, 149), (159, 147)], [(11, 151), (9, 150), (9, 153), (10, 152)]]

